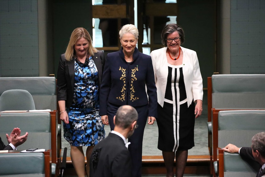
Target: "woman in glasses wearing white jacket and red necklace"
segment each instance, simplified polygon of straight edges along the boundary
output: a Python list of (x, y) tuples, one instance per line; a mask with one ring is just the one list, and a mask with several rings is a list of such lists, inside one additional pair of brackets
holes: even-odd
[(151, 52), (157, 88), (158, 149), (167, 177), (183, 176), (188, 149), (194, 146), (194, 123), (202, 113), (203, 83), (195, 51), (180, 46), (184, 31), (168, 24), (161, 34), (165, 47)]

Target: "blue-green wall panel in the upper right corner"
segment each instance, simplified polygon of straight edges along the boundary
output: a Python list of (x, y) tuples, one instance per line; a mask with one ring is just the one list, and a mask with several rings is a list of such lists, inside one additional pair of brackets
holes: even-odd
[(231, 74), (265, 74), (264, 29), (264, 0), (231, 0)]

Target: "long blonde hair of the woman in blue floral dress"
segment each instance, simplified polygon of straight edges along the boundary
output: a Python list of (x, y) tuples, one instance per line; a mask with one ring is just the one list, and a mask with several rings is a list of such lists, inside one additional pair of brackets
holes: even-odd
[(89, 43), (88, 53), (91, 56), (94, 56), (94, 53), (97, 52), (97, 49), (95, 47), (93, 47), (92, 39), (90, 37), (89, 32), (85, 28), (79, 27), (79, 28), (76, 28), (73, 30), (71, 37), (70, 37), (70, 41), (69, 41), (68, 46), (66, 48), (65, 59), (67, 61), (72, 60), (73, 56), (75, 55), (74, 45), (81, 38), (85, 38), (88, 41), (88, 43)]

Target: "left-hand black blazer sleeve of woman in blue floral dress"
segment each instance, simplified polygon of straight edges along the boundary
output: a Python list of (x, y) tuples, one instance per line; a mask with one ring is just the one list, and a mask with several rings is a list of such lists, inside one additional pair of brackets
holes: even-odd
[(67, 81), (65, 78), (65, 58), (61, 55), (57, 70), (57, 101), (67, 99)]

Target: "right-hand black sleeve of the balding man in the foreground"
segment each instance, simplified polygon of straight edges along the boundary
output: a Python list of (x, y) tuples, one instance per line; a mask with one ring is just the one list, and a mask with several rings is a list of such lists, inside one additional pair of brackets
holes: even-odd
[(130, 177), (132, 175), (132, 162), (128, 150), (123, 150), (116, 156), (111, 171), (113, 177)]

